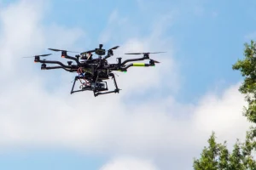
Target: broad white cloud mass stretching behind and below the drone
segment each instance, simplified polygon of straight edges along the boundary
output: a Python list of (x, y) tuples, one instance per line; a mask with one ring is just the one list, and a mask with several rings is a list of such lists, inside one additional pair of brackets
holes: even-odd
[[(34, 71), (39, 65), (33, 67), (27, 60), (22, 64), (28, 66), (21, 70), (24, 65), (15, 62), (16, 56), (38, 53), (49, 44), (73, 47), (85, 35), (79, 28), (42, 26), (44, 10), (37, 7), (37, 3), (22, 1), (5, 8), (0, 16), (1, 35), (7, 42), (1, 42), (0, 59), (6, 65), (1, 65), (0, 77), (8, 81), (0, 91), (0, 150), (17, 146), (64, 147), (108, 156), (146, 157), (154, 159), (160, 169), (188, 169), (212, 131), (219, 140), (228, 139), (230, 143), (245, 136), (248, 123), (241, 116), (244, 101), (238, 85), (226, 89), (222, 96), (207, 94), (197, 105), (173, 99), (172, 93), (180, 88), (179, 66), (172, 59), (172, 39), (160, 33), (169, 17), (158, 23), (161, 26), (151, 36), (131, 37), (116, 50), (119, 56), (121, 51), (168, 49), (167, 54), (151, 56), (161, 61), (155, 68), (131, 68), (127, 74), (120, 73), (120, 94), (98, 98), (91, 93), (70, 95), (71, 74), (63, 72), (61, 82), (49, 84), (45, 81), (56, 76), (52, 75), (54, 71)], [(26, 26), (15, 27), (15, 20), (22, 20)], [(67, 33), (65, 37), (60, 36), (63, 32)], [(54, 91), (46, 88), (56, 84), (60, 86)], [(117, 158), (102, 170), (117, 167), (157, 169), (151, 161)]]

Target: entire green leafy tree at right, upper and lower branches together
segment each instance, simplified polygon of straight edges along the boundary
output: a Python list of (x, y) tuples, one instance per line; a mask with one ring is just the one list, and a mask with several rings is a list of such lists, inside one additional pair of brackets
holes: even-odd
[[(243, 115), (249, 122), (256, 123), (256, 42), (245, 43), (245, 59), (238, 59), (232, 65), (233, 70), (241, 71), (244, 77), (239, 91), (245, 94), (247, 107), (244, 107)], [(232, 152), (227, 149), (227, 143), (218, 144), (215, 133), (208, 139), (208, 147), (202, 150), (201, 158), (194, 160), (195, 170), (255, 170), (256, 160), (253, 155), (256, 151), (256, 128), (251, 127), (247, 131), (244, 143), (237, 140)], [(255, 155), (256, 156), (256, 155)]]

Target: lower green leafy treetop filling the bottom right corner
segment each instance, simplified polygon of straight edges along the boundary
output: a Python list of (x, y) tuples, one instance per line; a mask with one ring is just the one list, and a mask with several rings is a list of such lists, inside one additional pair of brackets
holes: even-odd
[(233, 150), (227, 149), (226, 142), (218, 144), (215, 133), (208, 139), (208, 147), (202, 150), (201, 158), (194, 160), (195, 170), (255, 170), (256, 161), (253, 151), (256, 149), (256, 141), (253, 139), (256, 129), (247, 132), (245, 143), (237, 140)]

